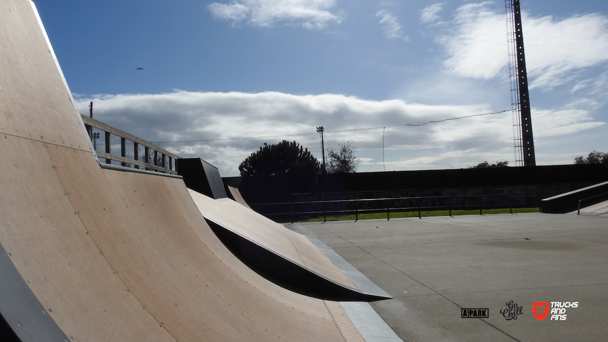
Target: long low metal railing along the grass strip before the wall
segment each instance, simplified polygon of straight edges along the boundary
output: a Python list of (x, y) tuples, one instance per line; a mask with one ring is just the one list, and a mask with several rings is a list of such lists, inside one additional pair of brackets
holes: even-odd
[[(392, 197), (392, 198), (364, 198), (356, 200), (319, 200), (281, 203), (249, 204), (255, 211), (267, 217), (280, 216), (283, 219), (291, 217), (295, 222), (300, 217), (323, 217), (327, 221), (328, 214), (355, 215), (385, 212), (390, 220), (391, 212), (418, 212), (422, 218), (423, 211), (447, 211), (452, 216), (455, 210), (478, 210), (482, 215), (487, 209), (506, 209), (513, 214), (513, 208), (540, 208), (541, 199), (554, 195), (554, 193), (526, 193), (526, 194), (490, 194), (490, 195), (451, 195), (451, 196), (424, 196), (424, 197)], [(498, 198), (492, 201), (491, 198)], [(492, 203), (494, 202), (494, 203)], [(299, 208), (305, 208), (299, 210)]]

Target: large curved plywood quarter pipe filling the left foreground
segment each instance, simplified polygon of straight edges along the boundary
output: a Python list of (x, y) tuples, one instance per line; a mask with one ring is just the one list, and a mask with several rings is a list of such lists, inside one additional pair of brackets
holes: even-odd
[(182, 180), (102, 169), (33, 4), (0, 0), (0, 23), (0, 257), (66, 340), (363, 341), (339, 303), (244, 266)]

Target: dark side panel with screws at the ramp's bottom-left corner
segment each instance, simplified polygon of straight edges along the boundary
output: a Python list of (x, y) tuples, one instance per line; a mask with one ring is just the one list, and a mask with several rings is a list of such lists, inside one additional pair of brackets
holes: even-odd
[[(0, 314), (6, 322), (3, 326), (0, 320), (2, 341), (70, 341), (30, 290), (27, 281), (15, 268), (11, 256), (0, 243)], [(5, 331), (2, 329), (10, 329), (10, 332), (4, 336)]]

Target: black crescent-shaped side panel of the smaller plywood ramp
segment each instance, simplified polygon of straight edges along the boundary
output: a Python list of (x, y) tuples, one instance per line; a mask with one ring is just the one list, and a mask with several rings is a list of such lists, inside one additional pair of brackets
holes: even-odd
[(247, 267), (275, 284), (313, 298), (328, 301), (371, 302), (387, 299), (368, 295), (332, 281), (313, 270), (258, 245), (205, 217), (215, 235)]

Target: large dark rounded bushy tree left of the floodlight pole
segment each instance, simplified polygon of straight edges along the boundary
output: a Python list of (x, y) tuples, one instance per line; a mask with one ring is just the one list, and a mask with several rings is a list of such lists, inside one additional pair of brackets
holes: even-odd
[(295, 141), (264, 143), (251, 153), (238, 170), (248, 190), (268, 194), (307, 192), (313, 188), (321, 172), (319, 161)]

